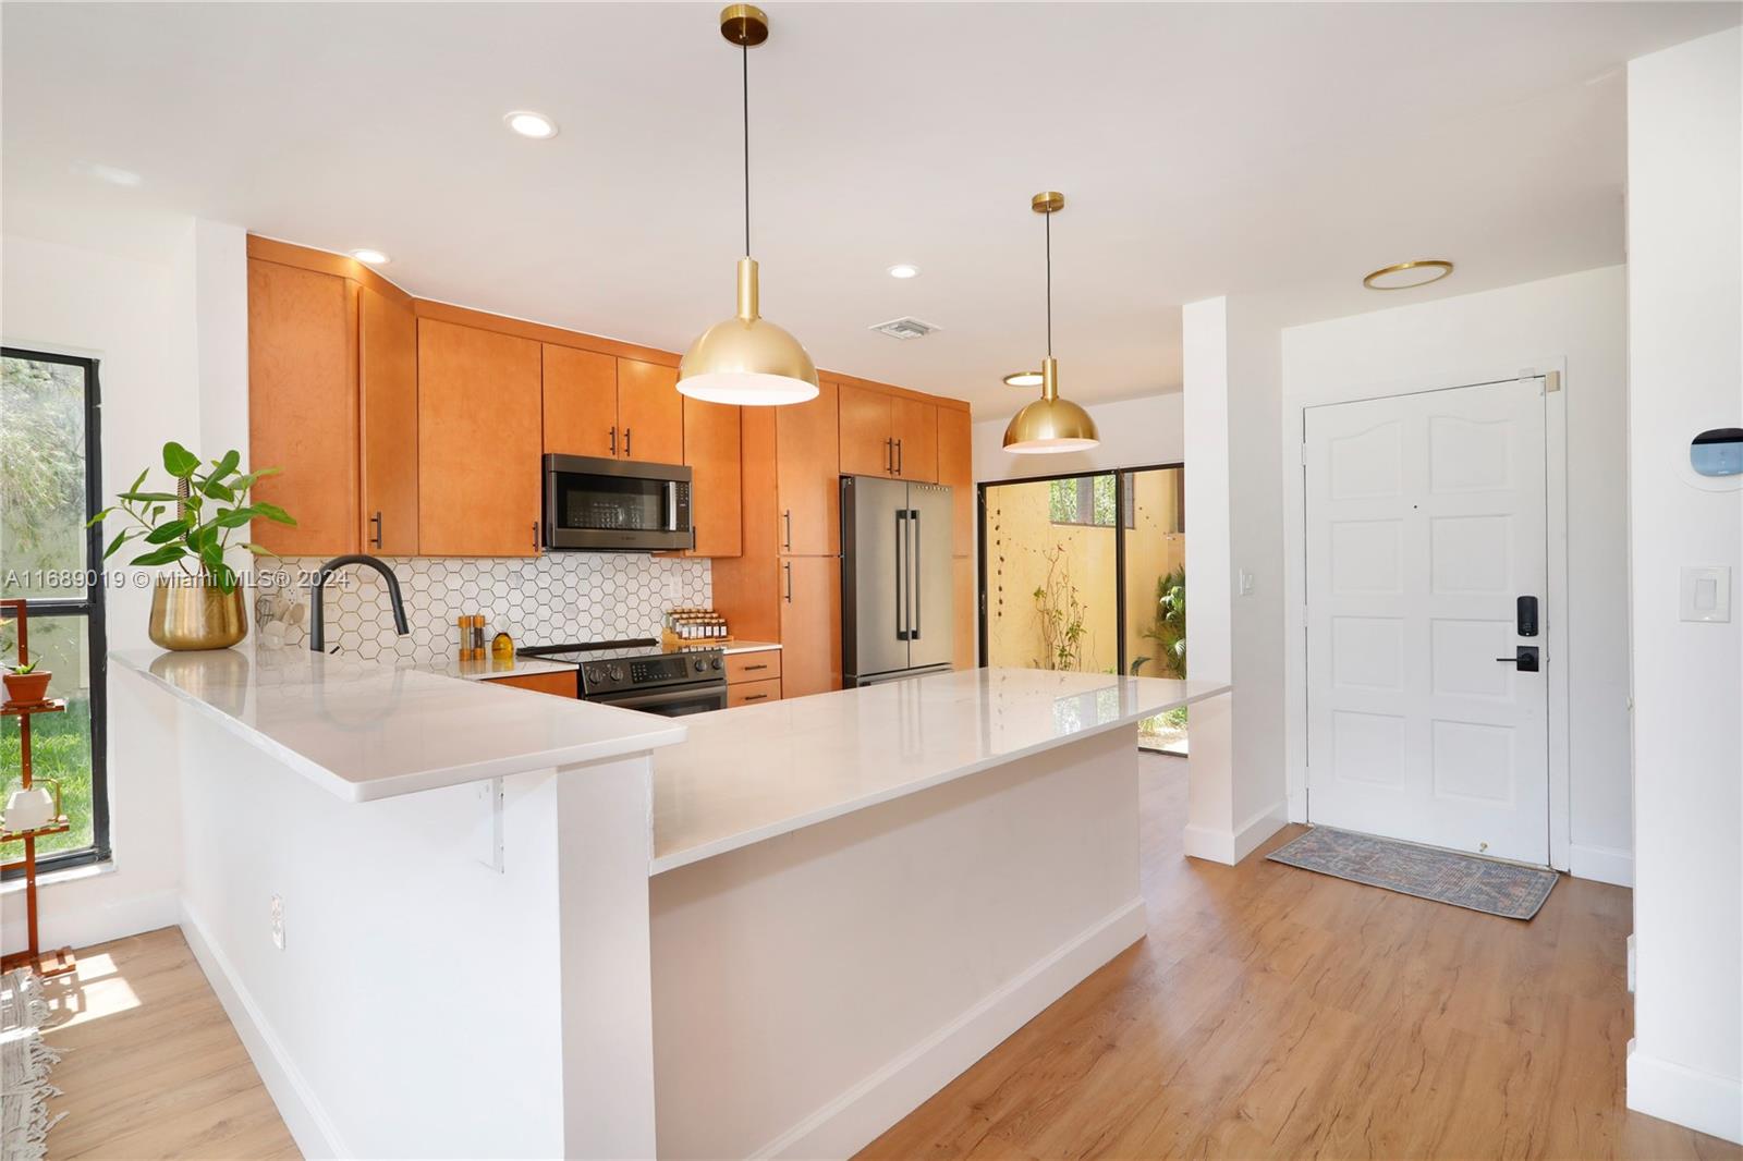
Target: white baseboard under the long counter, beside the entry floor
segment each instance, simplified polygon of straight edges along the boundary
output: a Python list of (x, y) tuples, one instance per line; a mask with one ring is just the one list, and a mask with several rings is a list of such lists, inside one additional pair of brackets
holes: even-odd
[(751, 1156), (852, 1156), (1143, 931), (1143, 900), (1131, 900)]

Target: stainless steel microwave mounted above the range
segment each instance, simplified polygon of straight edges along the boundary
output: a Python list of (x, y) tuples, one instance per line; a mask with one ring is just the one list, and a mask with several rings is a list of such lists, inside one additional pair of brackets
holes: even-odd
[(688, 467), (547, 455), (544, 476), (547, 549), (669, 553), (695, 547)]

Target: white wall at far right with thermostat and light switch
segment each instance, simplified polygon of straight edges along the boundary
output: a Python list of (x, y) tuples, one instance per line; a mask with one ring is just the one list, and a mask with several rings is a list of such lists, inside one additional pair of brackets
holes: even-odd
[[(1743, 31), (1628, 64), (1635, 1039), (1628, 1107), (1743, 1142), (1743, 492), (1687, 471), (1743, 425)], [(1729, 565), (1731, 621), (1679, 617)]]

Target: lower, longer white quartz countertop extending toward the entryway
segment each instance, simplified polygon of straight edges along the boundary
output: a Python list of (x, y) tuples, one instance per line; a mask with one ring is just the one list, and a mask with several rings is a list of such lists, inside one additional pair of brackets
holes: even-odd
[(1229, 692), (1215, 682), (962, 669), (683, 718), (654, 753), (654, 863), (675, 870)]

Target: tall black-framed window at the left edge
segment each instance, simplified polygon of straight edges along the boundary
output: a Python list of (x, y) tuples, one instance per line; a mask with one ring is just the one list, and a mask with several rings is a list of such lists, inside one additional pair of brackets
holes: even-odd
[[(31, 723), (31, 765), (61, 784), (71, 823), (37, 844), (40, 870), (110, 856), (105, 753), (106, 642), (98, 361), (0, 349), (0, 596), (30, 601), (30, 655), (66, 713)], [(0, 626), (0, 659), (17, 635)], [(0, 774), (17, 783), (17, 718), (0, 720)], [(16, 872), (14, 872), (16, 873)]]

